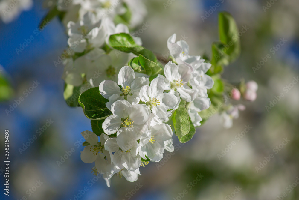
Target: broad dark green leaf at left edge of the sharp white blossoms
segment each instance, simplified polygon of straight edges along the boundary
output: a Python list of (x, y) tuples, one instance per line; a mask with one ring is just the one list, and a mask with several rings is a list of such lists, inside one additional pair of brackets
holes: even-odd
[(84, 110), (84, 114), (89, 119), (101, 120), (112, 115), (112, 112), (106, 107), (108, 99), (105, 99), (98, 87), (86, 90), (79, 96), (79, 104)]

